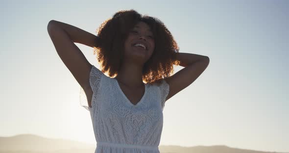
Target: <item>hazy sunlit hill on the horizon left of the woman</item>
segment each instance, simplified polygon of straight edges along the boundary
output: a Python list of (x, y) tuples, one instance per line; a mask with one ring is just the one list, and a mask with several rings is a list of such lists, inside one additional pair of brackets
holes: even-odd
[(0, 153), (94, 153), (95, 149), (96, 145), (33, 134), (0, 137)]

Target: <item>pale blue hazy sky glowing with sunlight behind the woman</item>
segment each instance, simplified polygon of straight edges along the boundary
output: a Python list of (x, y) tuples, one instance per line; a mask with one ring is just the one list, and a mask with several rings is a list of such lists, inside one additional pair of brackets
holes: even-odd
[[(160, 19), (179, 52), (210, 58), (201, 76), (166, 102), (160, 145), (289, 152), (288, 8), (288, 0), (1, 0), (0, 136), (95, 144), (80, 85), (47, 25), (56, 20), (96, 35), (114, 13), (134, 9)], [(100, 68), (93, 48), (75, 44)]]

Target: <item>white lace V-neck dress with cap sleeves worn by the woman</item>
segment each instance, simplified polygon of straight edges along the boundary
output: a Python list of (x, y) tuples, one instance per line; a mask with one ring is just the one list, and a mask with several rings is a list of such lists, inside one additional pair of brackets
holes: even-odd
[(96, 138), (95, 153), (160, 153), (163, 109), (169, 84), (145, 84), (145, 94), (134, 105), (117, 79), (107, 77), (94, 65), (90, 72), (92, 108), (83, 89), (80, 105), (90, 111)]

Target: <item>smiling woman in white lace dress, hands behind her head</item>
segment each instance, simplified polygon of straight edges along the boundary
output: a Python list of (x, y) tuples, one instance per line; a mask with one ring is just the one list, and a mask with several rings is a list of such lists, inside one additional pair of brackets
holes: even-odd
[[(178, 52), (160, 20), (135, 10), (115, 13), (98, 27), (97, 36), (54, 20), (48, 33), (85, 92), (81, 105), (90, 111), (96, 153), (159, 153), (165, 102), (209, 64), (208, 56)], [(74, 43), (93, 47), (102, 70)], [(173, 65), (185, 68), (171, 75)]]

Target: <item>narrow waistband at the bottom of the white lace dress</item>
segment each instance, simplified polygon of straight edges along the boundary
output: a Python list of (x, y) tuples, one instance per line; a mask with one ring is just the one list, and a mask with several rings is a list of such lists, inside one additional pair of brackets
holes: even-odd
[(120, 148), (139, 148), (139, 149), (159, 150), (158, 146), (130, 145), (130, 144), (120, 144), (120, 143), (111, 143), (111, 142), (96, 142), (96, 146), (111, 146), (111, 147), (120, 147)]

